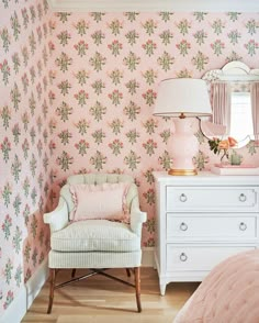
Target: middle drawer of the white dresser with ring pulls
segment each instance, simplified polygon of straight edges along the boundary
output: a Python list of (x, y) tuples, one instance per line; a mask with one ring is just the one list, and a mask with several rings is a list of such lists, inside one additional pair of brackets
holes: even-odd
[[(179, 214), (178, 214), (179, 215)], [(256, 238), (256, 216), (222, 216), (212, 214), (204, 216), (187, 216), (185, 214), (167, 214), (167, 241), (174, 238), (199, 238), (205, 240), (244, 240)]]

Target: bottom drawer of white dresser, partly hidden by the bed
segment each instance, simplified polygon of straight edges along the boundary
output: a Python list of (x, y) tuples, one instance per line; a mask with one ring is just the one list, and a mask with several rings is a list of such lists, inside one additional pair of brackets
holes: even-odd
[(211, 270), (227, 257), (255, 249), (243, 246), (177, 246), (167, 245), (167, 271)]

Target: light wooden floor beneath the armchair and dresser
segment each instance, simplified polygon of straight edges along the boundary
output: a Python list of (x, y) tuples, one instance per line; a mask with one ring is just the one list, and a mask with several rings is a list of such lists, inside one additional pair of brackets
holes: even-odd
[[(83, 275), (85, 270), (78, 270)], [(109, 270), (122, 279), (123, 269)], [(71, 271), (58, 272), (57, 282), (70, 278)], [(142, 313), (136, 312), (135, 290), (100, 275), (55, 291), (52, 314), (46, 314), (48, 282), (34, 300), (22, 323), (172, 323), (177, 312), (199, 283), (173, 282), (166, 296), (159, 293), (157, 271), (142, 268)]]

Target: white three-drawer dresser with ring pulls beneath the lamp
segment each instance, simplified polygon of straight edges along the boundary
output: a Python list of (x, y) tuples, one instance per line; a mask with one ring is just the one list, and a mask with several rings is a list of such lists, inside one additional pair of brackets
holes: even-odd
[(259, 247), (259, 176), (154, 177), (161, 294), (171, 281), (201, 281), (221, 260)]

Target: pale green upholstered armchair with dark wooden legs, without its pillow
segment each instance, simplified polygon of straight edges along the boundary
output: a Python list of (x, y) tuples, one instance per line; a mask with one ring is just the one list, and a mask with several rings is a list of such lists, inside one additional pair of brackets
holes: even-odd
[[(127, 183), (125, 204), (130, 222), (123, 223), (105, 219), (71, 221), (70, 216), (75, 209), (71, 187), (75, 185), (99, 187), (104, 183)], [(87, 203), (87, 196), (85, 202)], [(106, 203), (110, 202), (111, 200), (106, 201)], [(145, 221), (146, 213), (139, 210), (137, 187), (131, 176), (86, 174), (68, 177), (67, 183), (60, 190), (57, 208), (44, 214), (44, 222), (50, 227), (50, 252), (48, 254), (50, 288), (47, 313), (52, 312), (55, 289), (97, 274), (134, 287), (137, 310), (140, 312), (140, 242), (142, 225)], [(75, 277), (78, 268), (88, 269), (87, 274)], [(125, 268), (130, 277), (131, 271), (134, 272), (134, 283), (111, 276), (106, 272), (109, 268)], [(72, 269), (72, 277), (69, 281), (56, 285), (56, 275), (59, 269)]]

